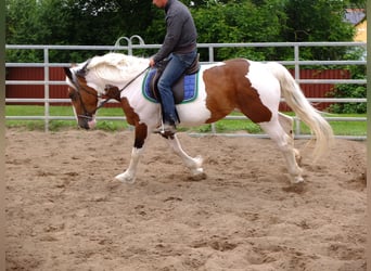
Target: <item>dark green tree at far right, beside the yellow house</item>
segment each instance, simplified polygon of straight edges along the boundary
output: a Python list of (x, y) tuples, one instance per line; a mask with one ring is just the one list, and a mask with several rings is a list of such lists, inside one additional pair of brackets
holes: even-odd
[[(344, 21), (347, 3), (342, 0), (290, 0), (284, 12), (287, 24), (286, 41), (351, 41), (354, 27)], [(340, 60), (346, 48), (308, 48), (304, 60)]]

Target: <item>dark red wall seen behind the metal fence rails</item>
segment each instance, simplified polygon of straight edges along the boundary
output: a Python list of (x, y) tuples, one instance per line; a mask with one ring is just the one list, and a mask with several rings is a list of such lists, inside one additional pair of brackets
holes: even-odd
[[(293, 75), (294, 72), (290, 70)], [(65, 74), (62, 67), (49, 68), (50, 80), (64, 81)], [(345, 69), (303, 69), (300, 70), (300, 79), (349, 79), (350, 75)], [(8, 67), (7, 80), (43, 80), (43, 67)], [(331, 83), (302, 83), (304, 94), (307, 98), (325, 98), (329, 91), (332, 91)], [(51, 99), (67, 99), (67, 87), (65, 85), (50, 85), (49, 95)], [(13, 99), (42, 99), (43, 85), (8, 85), (5, 87), (5, 96)], [(15, 104), (15, 103), (12, 103)], [(25, 104), (25, 103), (20, 103)], [(31, 104), (31, 103), (28, 103)], [(39, 103), (42, 104), (42, 103)], [(330, 103), (314, 104), (318, 109), (324, 109)], [(54, 103), (52, 105), (55, 105)], [(69, 103), (59, 104), (69, 105)], [(119, 107), (119, 104), (106, 104), (110, 107)], [(285, 103), (281, 103), (280, 111), (290, 111)]]

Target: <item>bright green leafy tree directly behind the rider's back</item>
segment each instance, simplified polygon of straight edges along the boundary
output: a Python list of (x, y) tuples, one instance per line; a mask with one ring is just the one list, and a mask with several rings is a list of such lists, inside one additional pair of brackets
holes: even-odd
[[(199, 42), (283, 41), (281, 31), (286, 16), (283, 13), (282, 1), (266, 0), (257, 5), (250, 0), (243, 0), (227, 3), (208, 2), (207, 5), (207, 9), (193, 11)], [(277, 60), (279, 50), (222, 48), (217, 50), (216, 59), (246, 56), (254, 60)]]

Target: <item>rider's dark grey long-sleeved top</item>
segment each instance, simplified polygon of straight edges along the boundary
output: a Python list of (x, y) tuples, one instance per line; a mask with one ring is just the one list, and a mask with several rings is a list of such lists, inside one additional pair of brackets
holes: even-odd
[(166, 36), (162, 48), (153, 57), (155, 62), (164, 60), (170, 53), (189, 53), (196, 48), (197, 31), (188, 8), (178, 0), (168, 0), (165, 14)]

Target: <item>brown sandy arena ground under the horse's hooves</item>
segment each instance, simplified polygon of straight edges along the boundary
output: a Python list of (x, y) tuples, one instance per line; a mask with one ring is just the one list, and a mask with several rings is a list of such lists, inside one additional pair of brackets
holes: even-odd
[(335, 140), (305, 184), (290, 185), (271, 140), (191, 138), (205, 158), (193, 180), (159, 136), (136, 183), (133, 134), (66, 130), (5, 133), (7, 270), (366, 270), (366, 142)]

